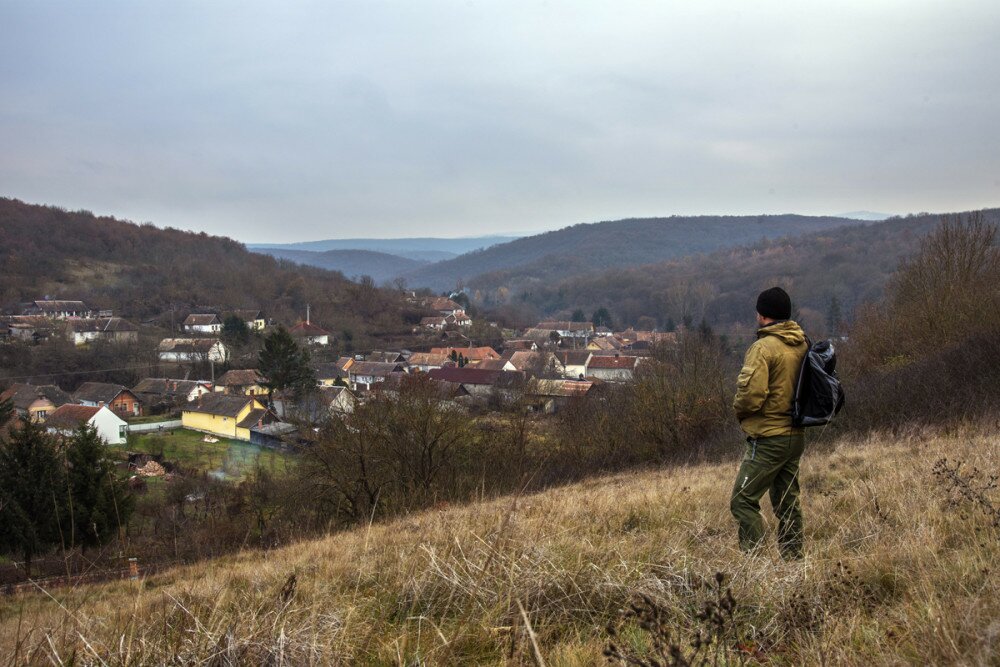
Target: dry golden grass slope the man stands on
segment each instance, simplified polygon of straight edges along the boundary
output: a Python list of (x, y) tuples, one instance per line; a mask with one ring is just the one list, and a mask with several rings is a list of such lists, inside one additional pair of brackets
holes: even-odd
[(997, 664), (996, 433), (807, 450), (803, 562), (735, 548), (734, 455), (6, 598), (0, 662)]

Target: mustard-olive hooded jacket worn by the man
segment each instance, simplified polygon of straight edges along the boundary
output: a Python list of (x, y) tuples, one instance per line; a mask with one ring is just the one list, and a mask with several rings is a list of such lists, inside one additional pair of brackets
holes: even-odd
[(757, 330), (757, 340), (743, 359), (733, 399), (740, 428), (750, 437), (802, 432), (792, 426), (791, 411), (806, 348), (802, 327), (792, 320)]

